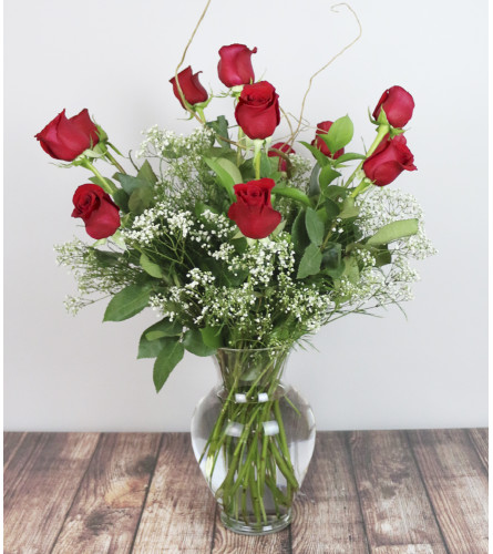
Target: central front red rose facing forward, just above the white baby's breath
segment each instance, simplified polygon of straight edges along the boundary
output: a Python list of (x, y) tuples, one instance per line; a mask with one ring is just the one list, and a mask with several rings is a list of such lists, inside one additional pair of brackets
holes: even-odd
[(281, 215), (270, 204), (275, 182), (260, 178), (235, 185), (237, 201), (229, 206), (228, 217), (249, 238), (265, 238), (279, 225)]

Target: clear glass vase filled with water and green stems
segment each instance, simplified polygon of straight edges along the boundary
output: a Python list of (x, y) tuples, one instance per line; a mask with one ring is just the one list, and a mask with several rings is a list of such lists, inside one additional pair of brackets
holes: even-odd
[(192, 444), (223, 524), (247, 535), (289, 525), (315, 447), (309, 404), (281, 382), (286, 349), (218, 349), (220, 384), (197, 404)]

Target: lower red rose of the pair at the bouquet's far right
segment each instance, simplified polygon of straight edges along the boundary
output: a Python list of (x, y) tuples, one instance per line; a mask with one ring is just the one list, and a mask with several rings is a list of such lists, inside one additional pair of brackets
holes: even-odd
[(414, 156), (405, 142), (404, 135), (397, 135), (391, 141), (384, 138), (373, 154), (366, 160), (363, 172), (374, 185), (388, 185), (404, 170), (413, 172), (418, 168), (413, 163)]

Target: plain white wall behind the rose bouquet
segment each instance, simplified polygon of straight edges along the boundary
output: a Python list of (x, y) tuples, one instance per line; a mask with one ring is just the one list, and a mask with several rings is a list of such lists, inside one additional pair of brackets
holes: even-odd
[[(63, 107), (70, 116), (89, 107), (123, 151), (155, 123), (187, 132), (193, 124), (178, 121), (167, 81), (204, 4), (4, 2), (7, 430), (187, 430), (215, 383), (212, 361), (186, 355), (155, 393), (152, 360), (135, 359), (152, 312), (104, 325), (103, 304), (65, 314), (74, 286), (52, 245), (84, 236), (70, 214), (86, 173), (51, 165), (33, 138)], [(286, 377), (310, 400), (319, 429), (485, 425), (487, 2), (351, 6), (363, 37), (315, 81), (306, 117), (315, 125), (349, 113), (369, 144), (367, 109), (381, 92), (400, 84), (413, 94), (407, 136), (419, 171), (390, 186), (418, 196), (440, 254), (418, 263), (408, 320), (398, 309), (342, 319), (316, 337), (318, 352), (292, 355)], [(213, 0), (187, 63), (217, 92), (217, 50), (256, 45), (257, 76), (265, 72), (285, 110), (298, 113), (309, 75), (356, 32), (330, 1)], [(215, 101), (209, 113), (222, 112), (230, 115), (229, 104)]]

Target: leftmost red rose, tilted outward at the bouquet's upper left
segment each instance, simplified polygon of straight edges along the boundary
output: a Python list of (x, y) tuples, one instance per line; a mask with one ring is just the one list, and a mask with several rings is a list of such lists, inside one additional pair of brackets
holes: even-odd
[(51, 157), (64, 162), (73, 162), (84, 150), (94, 146), (100, 141), (97, 127), (91, 121), (85, 107), (70, 120), (66, 119), (65, 110), (63, 110), (34, 137)]

